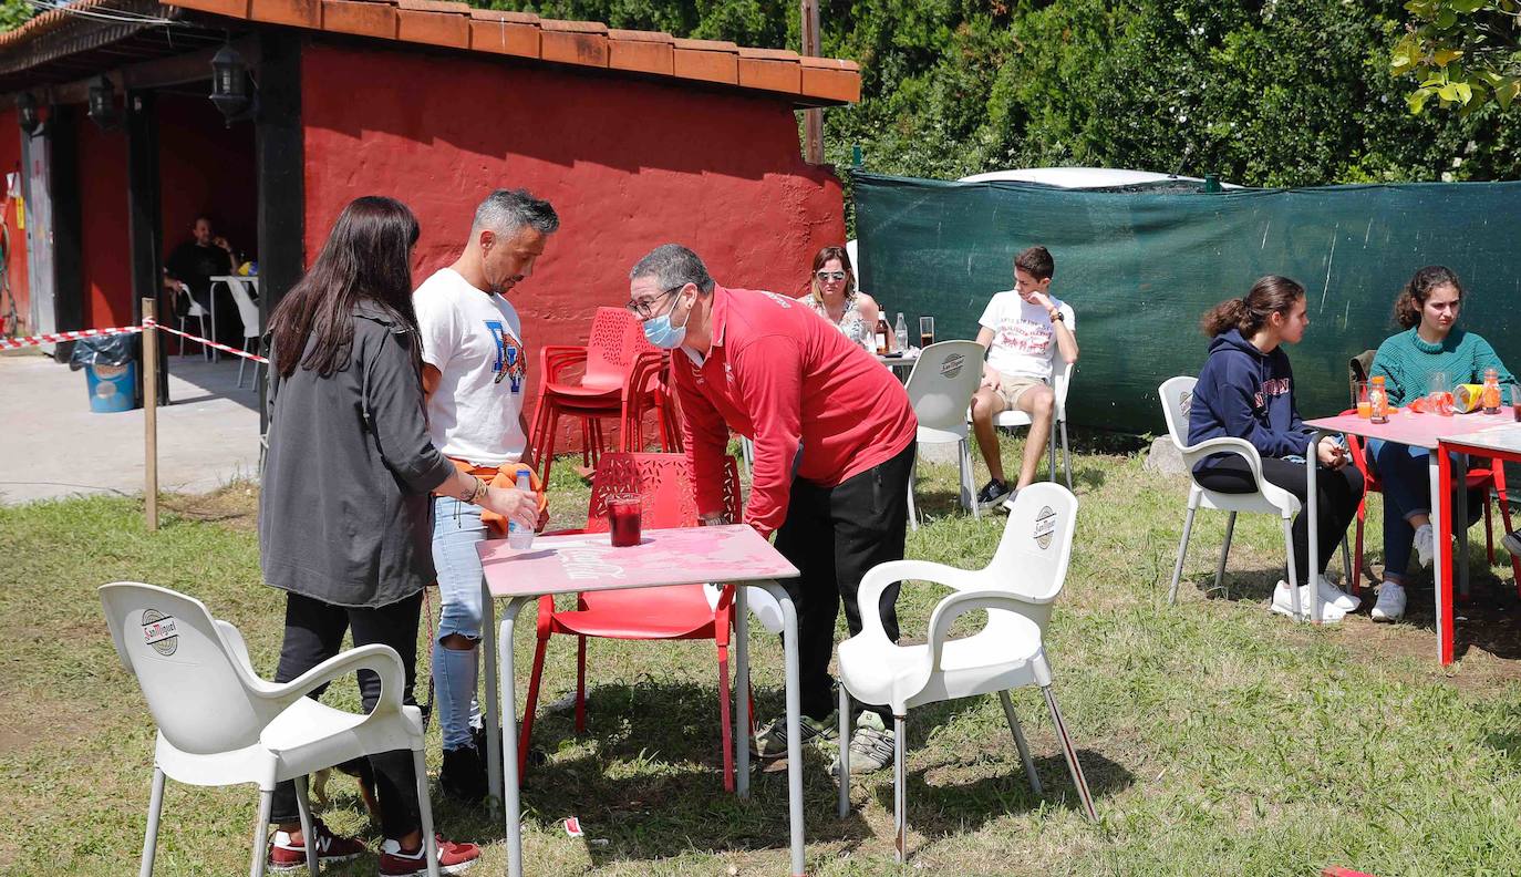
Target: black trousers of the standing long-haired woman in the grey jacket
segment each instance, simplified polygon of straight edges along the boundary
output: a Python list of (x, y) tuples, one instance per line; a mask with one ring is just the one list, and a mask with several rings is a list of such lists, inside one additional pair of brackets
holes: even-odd
[[(421, 617), (421, 591), (376, 609), (333, 606), (301, 594), (286, 594), (286, 632), (284, 644), (280, 647), (280, 668), (275, 671), (275, 682), (289, 682), (338, 655), (344, 644), (344, 632), (353, 630), (354, 647), (379, 643), (397, 650), (406, 671), (406, 691), (402, 693), (402, 699), (406, 703), (415, 703), (412, 685), (417, 681), (417, 623)], [(360, 670), (357, 676), (365, 711), (374, 710), (380, 699), (380, 678), (368, 670)], [(321, 697), (325, 688), (324, 685), (312, 691), (309, 697)], [(371, 755), (370, 766), (376, 775), (380, 830), (385, 837), (400, 839), (417, 831), (423, 818), (418, 812), (412, 752), (394, 749)], [(294, 783), (281, 783), (275, 787), (269, 819), (275, 824), (300, 819)]]

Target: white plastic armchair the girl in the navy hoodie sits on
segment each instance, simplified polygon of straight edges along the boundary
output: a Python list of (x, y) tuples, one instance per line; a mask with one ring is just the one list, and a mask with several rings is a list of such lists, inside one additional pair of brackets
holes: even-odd
[[(1299, 515), (1300, 509), (1299, 498), (1262, 478), (1262, 457), (1246, 438), (1221, 437), (1208, 438), (1205, 442), (1199, 442), (1197, 445), (1188, 443), (1188, 416), (1192, 408), (1196, 384), (1197, 379), (1194, 378), (1179, 376), (1170, 378), (1157, 387), (1157, 394), (1162, 399), (1162, 414), (1167, 417), (1167, 434), (1171, 437), (1179, 454), (1182, 454), (1189, 478), (1188, 512), (1183, 518), (1183, 536), (1177, 544), (1177, 562), (1173, 565), (1173, 583), (1167, 591), (1167, 601), (1170, 604), (1177, 601), (1177, 583), (1183, 576), (1183, 559), (1188, 554), (1188, 537), (1194, 530), (1194, 513), (1200, 507), (1230, 513), (1230, 518), (1226, 519), (1226, 541), (1220, 547), (1220, 562), (1215, 566), (1215, 588), (1220, 588), (1224, 580), (1226, 559), (1230, 556), (1230, 536), (1235, 533), (1235, 518), (1241, 512), (1276, 515), (1279, 518), (1284, 528), (1284, 551), (1288, 556), (1288, 582), (1299, 583), (1299, 569), (1294, 568), (1293, 537), (1293, 521), (1294, 516)], [(1214, 454), (1235, 454), (1237, 457), (1241, 457), (1246, 461), (1247, 469), (1252, 472), (1252, 481), (1256, 484), (1256, 490), (1252, 493), (1221, 493), (1218, 490), (1200, 487), (1199, 481), (1194, 480), (1194, 464)], [(1342, 545), (1342, 556), (1343, 563), (1348, 565), (1348, 571), (1351, 574), (1351, 560), (1348, 559), (1345, 539)], [(1307, 615), (1303, 615), (1303, 608), (1299, 604), (1299, 588), (1290, 588), (1290, 598), (1293, 601), (1294, 617), (1305, 618)]]

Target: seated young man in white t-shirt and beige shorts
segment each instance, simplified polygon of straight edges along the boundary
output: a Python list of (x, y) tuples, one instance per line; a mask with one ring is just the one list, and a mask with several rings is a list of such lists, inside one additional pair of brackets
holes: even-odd
[[(1077, 362), (1077, 336), (1062, 317), (1062, 301), (1049, 292), (1053, 274), (1056, 260), (1045, 247), (1025, 250), (1015, 257), (1015, 288), (995, 292), (978, 320), (983, 327), (976, 343), (987, 347), (987, 362), (983, 364), (983, 387), (972, 396), (972, 431), (990, 475), (976, 495), (983, 509), (1013, 499), (1019, 487), (1036, 480), (1056, 410), (1053, 364), (1057, 355), (1063, 362)], [(1019, 481), (1013, 487), (1004, 480), (993, 429), (993, 417), (1007, 410), (1024, 411), (1031, 420)]]

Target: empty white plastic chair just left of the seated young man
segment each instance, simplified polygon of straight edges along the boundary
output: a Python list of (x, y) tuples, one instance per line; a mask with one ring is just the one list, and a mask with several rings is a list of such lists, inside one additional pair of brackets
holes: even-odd
[[(961, 481), (961, 507), (976, 518), (976, 487), (972, 484), (972, 449), (967, 442), (966, 410), (983, 381), (983, 346), (976, 341), (940, 341), (919, 352), (903, 390), (919, 419), (914, 467), (919, 445), (957, 443)], [(908, 478), (908, 522), (919, 530), (914, 509), (914, 474)]]

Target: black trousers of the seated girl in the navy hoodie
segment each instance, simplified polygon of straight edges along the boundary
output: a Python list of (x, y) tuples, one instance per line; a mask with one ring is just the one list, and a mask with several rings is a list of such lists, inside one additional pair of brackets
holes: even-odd
[[(1262, 478), (1276, 487), (1288, 490), (1299, 498), (1300, 510), (1294, 518), (1293, 545), (1294, 571), (1299, 576), (1310, 576), (1307, 559), (1310, 557), (1310, 521), (1305, 518), (1308, 502), (1305, 502), (1305, 464), (1262, 457)], [(1218, 463), (1194, 474), (1194, 481), (1206, 490), (1221, 493), (1252, 493), (1256, 484), (1252, 472), (1246, 467), (1246, 460), (1235, 454), (1223, 457)], [(1326, 469), (1322, 466), (1316, 472), (1316, 528), (1320, 539), (1320, 557), (1314, 566), (1316, 572), (1325, 572), (1335, 557), (1342, 536), (1346, 534), (1348, 524), (1357, 518), (1357, 504), (1363, 499), (1363, 474), (1357, 466), (1342, 469)]]

